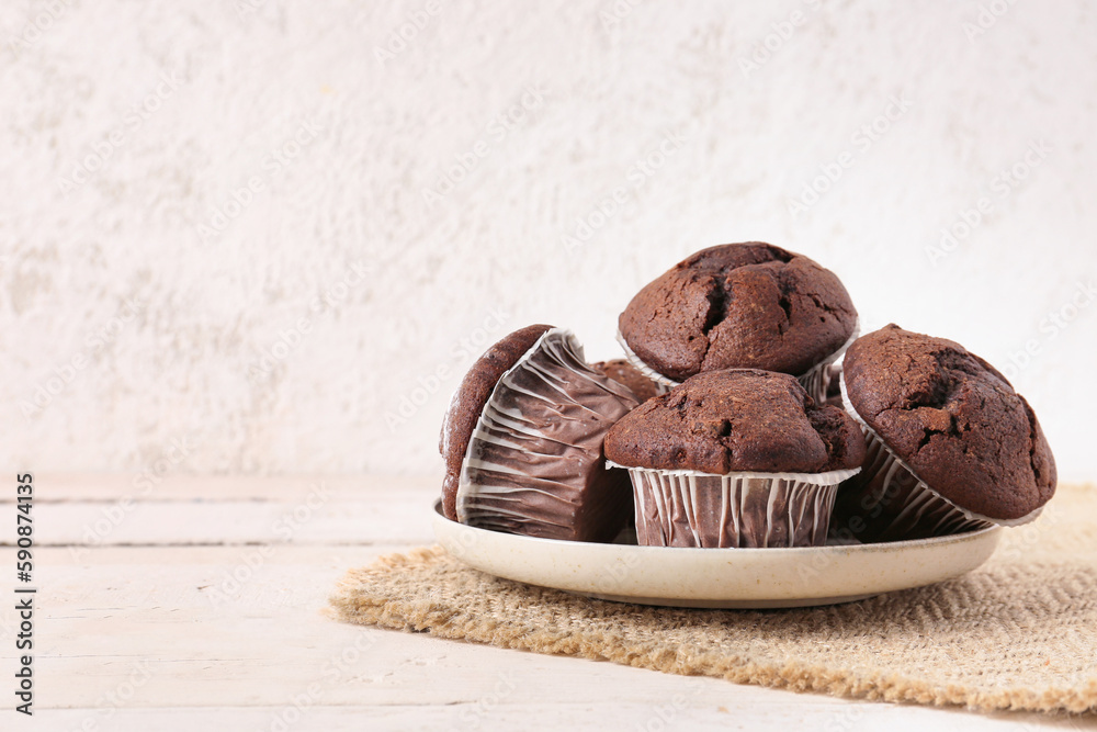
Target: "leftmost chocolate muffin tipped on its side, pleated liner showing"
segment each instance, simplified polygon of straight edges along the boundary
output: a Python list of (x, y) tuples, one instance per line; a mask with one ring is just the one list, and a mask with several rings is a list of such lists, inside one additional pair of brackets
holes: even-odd
[(638, 404), (591, 369), (568, 330), (529, 326), (465, 375), (442, 425), (442, 509), (452, 520), (547, 539), (609, 541), (624, 525), (624, 471), (606, 470), (610, 426)]

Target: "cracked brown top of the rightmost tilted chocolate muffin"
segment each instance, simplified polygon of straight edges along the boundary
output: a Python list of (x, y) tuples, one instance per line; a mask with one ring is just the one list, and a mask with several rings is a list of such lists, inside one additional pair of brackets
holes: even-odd
[(1055, 459), (1032, 408), (963, 346), (892, 324), (855, 341), (842, 373), (857, 414), (958, 506), (1008, 520), (1054, 494)]

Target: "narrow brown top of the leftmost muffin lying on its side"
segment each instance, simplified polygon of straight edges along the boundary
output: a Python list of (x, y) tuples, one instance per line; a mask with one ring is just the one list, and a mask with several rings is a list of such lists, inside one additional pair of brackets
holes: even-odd
[(476, 421), (479, 419), (484, 405), (487, 404), (491, 391), (502, 374), (538, 342), (545, 333), (552, 329), (548, 325), (531, 325), (516, 330), (491, 348), (473, 363), (461, 386), (453, 393), (450, 406), (442, 423), (442, 433), (439, 437), (438, 451), (445, 461), (445, 477), (442, 481), (442, 513), (451, 520), (456, 520), (457, 484), (461, 477), (461, 463), (468, 449)]

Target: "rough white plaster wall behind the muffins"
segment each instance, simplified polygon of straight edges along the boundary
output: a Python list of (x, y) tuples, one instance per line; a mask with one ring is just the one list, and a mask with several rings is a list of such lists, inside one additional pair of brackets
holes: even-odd
[(1095, 34), (1078, 0), (5, 2), (0, 463), (436, 472), (488, 342), (612, 357), (641, 285), (764, 239), (1007, 368), (1093, 478)]

